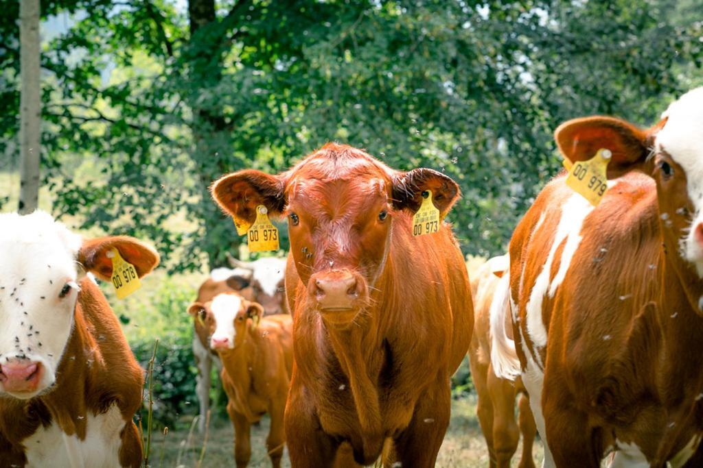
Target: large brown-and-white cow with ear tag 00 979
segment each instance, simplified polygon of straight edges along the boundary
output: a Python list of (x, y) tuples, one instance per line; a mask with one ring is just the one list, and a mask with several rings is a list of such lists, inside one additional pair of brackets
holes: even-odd
[(517, 372), (546, 464), (612, 450), (612, 466), (703, 464), (702, 128), (697, 88), (649, 129), (593, 116), (555, 132), (571, 161), (612, 160), (597, 208), (556, 178), (510, 241)]

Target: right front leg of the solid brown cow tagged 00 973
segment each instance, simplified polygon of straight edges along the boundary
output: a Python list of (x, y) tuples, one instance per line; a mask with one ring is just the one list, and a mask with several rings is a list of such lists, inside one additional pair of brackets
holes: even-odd
[(413, 419), (394, 442), (401, 466), (434, 467), (437, 452), (449, 427), (451, 389), (449, 377), (441, 375), (420, 395)]

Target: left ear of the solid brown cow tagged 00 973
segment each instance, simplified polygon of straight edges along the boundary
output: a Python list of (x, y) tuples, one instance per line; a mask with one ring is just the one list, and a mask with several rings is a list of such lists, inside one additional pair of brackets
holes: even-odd
[(224, 175), (210, 187), (214, 201), (229, 215), (252, 224), (256, 208), (266, 206), (269, 215), (280, 215), (285, 208), (285, 178), (246, 169)]

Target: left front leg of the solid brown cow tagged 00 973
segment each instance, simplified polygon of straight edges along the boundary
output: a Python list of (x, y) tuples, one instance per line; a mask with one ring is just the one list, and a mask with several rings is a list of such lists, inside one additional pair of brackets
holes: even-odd
[[(293, 379), (295, 380), (295, 368)], [(332, 467), (339, 442), (323, 432), (315, 410), (295, 391), (291, 383), (288, 402), (285, 405), (285, 439), (292, 468)]]

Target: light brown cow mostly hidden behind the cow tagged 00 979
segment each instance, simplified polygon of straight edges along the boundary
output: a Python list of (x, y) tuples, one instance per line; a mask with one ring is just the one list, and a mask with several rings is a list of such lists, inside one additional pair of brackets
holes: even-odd
[[(491, 366), (491, 312), (494, 315), (508, 305), (494, 302), (496, 290), (508, 288), (508, 256), (491, 258), (471, 275), (471, 295), (474, 299), (474, 333), (469, 346), (471, 377), (478, 394), (477, 414), (481, 429), (486, 438), (491, 468), (509, 468), (510, 459), (517, 450), (517, 443), (522, 433), (522, 456), (520, 468), (534, 468), (532, 445), (537, 429), (534, 417), (529, 409), (526, 390), (522, 387), (520, 377), (516, 382), (496, 377)], [(504, 298), (505, 294), (498, 295)], [(503, 323), (509, 316), (501, 314)], [(508, 328), (510, 332), (510, 328)], [(510, 333), (512, 337), (512, 333)], [(520, 393), (518, 401), (519, 426), (515, 423), (515, 396)]]

